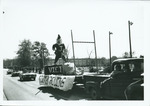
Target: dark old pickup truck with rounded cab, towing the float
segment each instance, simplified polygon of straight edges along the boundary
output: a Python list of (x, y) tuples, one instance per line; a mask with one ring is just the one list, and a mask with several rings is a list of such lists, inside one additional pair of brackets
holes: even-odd
[[(117, 65), (120, 65), (120, 72), (112, 76), (112, 73), (116, 70)], [(83, 76), (85, 91), (90, 94), (91, 98), (94, 100), (126, 100), (126, 89), (129, 88), (131, 83), (134, 83), (140, 79), (144, 80), (144, 76), (141, 75), (143, 71), (143, 58), (124, 58), (114, 60), (109, 73), (105, 72), (97, 75), (93, 74)], [(143, 100), (143, 93), (141, 92), (144, 91), (139, 90), (139, 92), (137, 92), (139, 93), (138, 97), (135, 96), (132, 100), (139, 100), (139, 98), (140, 100)]]

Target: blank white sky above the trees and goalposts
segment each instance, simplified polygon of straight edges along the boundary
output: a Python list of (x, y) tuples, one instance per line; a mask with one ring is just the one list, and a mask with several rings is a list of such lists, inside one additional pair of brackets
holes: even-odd
[[(128, 20), (131, 28), (132, 51), (144, 55), (144, 6), (133, 1), (99, 0), (3, 0), (3, 59), (16, 57), (24, 39), (44, 42), (50, 52), (60, 34), (72, 57), (71, 30), (74, 41), (94, 41), (97, 57), (109, 58), (109, 31), (112, 56), (129, 52)], [(75, 57), (95, 56), (94, 44), (74, 44)], [(53, 56), (52, 56), (53, 57)]]

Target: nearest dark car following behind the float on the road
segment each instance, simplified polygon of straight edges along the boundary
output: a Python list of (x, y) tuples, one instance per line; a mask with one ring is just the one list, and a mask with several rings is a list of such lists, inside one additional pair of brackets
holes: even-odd
[(21, 73), (19, 75), (19, 78), (20, 78), (20, 81), (24, 81), (24, 80), (33, 80), (33, 81), (35, 81), (36, 73), (33, 73), (33, 72)]

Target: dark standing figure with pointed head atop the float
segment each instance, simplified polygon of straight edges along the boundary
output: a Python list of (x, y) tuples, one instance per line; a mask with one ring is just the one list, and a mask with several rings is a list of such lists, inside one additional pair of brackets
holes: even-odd
[(59, 58), (62, 58), (65, 62), (67, 62), (66, 58), (65, 58), (65, 54), (64, 54), (64, 51), (66, 50), (65, 45), (62, 43), (62, 39), (61, 39), (59, 34), (58, 34), (58, 37), (56, 39), (56, 43), (52, 46), (52, 49), (55, 51), (54, 64), (57, 63)]

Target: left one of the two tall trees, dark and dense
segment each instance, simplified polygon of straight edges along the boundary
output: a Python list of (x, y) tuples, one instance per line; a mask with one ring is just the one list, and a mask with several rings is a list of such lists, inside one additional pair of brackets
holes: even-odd
[(31, 51), (32, 44), (30, 40), (24, 39), (21, 44), (19, 44), (19, 50), (17, 51), (18, 62), (20, 66), (26, 67), (31, 64)]

